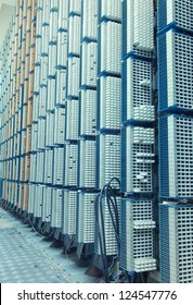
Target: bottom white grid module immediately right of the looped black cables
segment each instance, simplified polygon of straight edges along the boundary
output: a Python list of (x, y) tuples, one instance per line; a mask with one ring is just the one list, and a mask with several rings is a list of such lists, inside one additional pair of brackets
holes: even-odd
[(155, 270), (153, 202), (123, 199), (120, 210), (120, 266), (136, 272)]

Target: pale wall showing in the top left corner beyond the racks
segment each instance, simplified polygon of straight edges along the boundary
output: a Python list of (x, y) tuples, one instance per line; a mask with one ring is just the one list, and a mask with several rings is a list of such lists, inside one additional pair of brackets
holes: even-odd
[(8, 5), (2, 2), (12, 3), (11, 1), (0, 1), (0, 47), (3, 44), (4, 37), (7, 35), (12, 15), (15, 8), (13, 5)]

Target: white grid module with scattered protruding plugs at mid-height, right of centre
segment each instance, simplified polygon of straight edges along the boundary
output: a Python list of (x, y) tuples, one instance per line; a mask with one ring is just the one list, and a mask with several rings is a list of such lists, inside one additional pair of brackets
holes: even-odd
[(126, 163), (123, 164), (123, 191), (154, 192), (155, 132), (152, 127), (127, 126), (123, 131)]

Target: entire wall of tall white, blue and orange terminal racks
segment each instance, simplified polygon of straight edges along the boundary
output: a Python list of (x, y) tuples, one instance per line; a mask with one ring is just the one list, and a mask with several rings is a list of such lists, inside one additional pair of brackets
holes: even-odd
[(3, 205), (107, 281), (159, 232), (160, 281), (193, 282), (193, 7), (158, 1), (156, 124), (156, 3), (18, 0), (0, 54)]

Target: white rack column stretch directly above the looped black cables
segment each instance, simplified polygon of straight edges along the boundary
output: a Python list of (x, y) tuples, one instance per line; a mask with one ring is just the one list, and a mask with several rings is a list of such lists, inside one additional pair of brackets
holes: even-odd
[[(121, 1), (100, 1), (97, 129), (97, 187), (120, 179)], [(105, 164), (105, 167), (104, 167)]]

